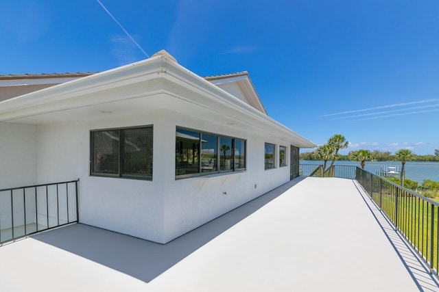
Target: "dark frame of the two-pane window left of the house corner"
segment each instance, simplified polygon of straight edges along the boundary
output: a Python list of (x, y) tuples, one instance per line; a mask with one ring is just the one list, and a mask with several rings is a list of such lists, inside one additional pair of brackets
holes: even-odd
[[(148, 155), (151, 158), (151, 161), (146, 160), (146, 164), (147, 165), (150, 164), (151, 174), (124, 174), (123, 173), (123, 159), (125, 157), (124, 153), (125, 153), (126, 149), (123, 147), (121, 140), (123, 140), (125, 137), (125, 133), (124, 133), (125, 131), (134, 130), (134, 129), (150, 129), (151, 130), (151, 135), (150, 135), (150, 137), (151, 137), (151, 154)], [(119, 131), (119, 145), (117, 148), (119, 158), (118, 158), (118, 163), (117, 163), (117, 173), (116, 174), (109, 174), (109, 173), (95, 172), (94, 171), (95, 141), (93, 139), (93, 134), (99, 133), (99, 132), (106, 132), (106, 131)], [(143, 181), (152, 181), (153, 169), (154, 169), (154, 126), (152, 124), (135, 126), (135, 127), (120, 127), (120, 128), (90, 130), (90, 170), (89, 170), (90, 176), (100, 176), (100, 177), (110, 177), (110, 178), (130, 178), (130, 179), (139, 179), (139, 180), (143, 180)]]

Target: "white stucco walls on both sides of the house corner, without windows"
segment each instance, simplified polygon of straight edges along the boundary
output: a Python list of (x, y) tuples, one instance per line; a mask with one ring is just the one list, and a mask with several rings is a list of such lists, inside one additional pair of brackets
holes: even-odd
[[(148, 124), (154, 125), (152, 181), (89, 176), (90, 130)], [(247, 140), (247, 170), (176, 180), (176, 126)], [(80, 178), (80, 222), (160, 243), (289, 180), (289, 167), (264, 170), (264, 143), (278, 141), (172, 111), (100, 115), (39, 125), (37, 133), (38, 183)]]

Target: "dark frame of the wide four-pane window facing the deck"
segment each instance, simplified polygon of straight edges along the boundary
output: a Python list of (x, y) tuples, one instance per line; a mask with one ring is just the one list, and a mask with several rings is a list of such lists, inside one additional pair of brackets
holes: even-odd
[[(200, 153), (199, 155), (199, 159), (198, 159), (198, 172), (196, 173), (191, 173), (191, 174), (177, 174), (177, 159), (176, 159), (176, 164), (174, 165), (174, 170), (175, 170), (175, 177), (176, 179), (180, 179), (180, 178), (190, 178), (190, 177), (202, 177), (202, 176), (213, 176), (213, 175), (219, 175), (219, 174), (230, 174), (230, 173), (234, 173), (234, 172), (244, 172), (247, 170), (247, 140), (243, 139), (243, 138), (239, 138), (239, 137), (232, 137), (232, 136), (228, 136), (228, 135), (221, 135), (221, 134), (217, 134), (217, 133), (211, 133), (211, 132), (207, 132), (207, 131), (200, 131), (200, 130), (195, 130), (195, 129), (191, 129), (191, 128), (186, 128), (186, 127), (176, 127), (176, 133), (178, 132), (178, 130), (182, 130), (182, 131), (191, 131), (193, 133), (198, 133), (198, 137), (199, 137), (199, 142), (198, 142), (198, 152)], [(203, 172), (202, 171), (202, 137), (203, 135), (210, 135), (210, 136), (215, 136), (217, 138), (217, 148), (216, 148), (216, 170), (215, 171), (211, 171), (211, 172)], [(221, 169), (221, 159), (222, 157), (224, 157), (224, 155), (222, 155), (222, 150), (221, 150), (221, 140), (222, 138), (224, 139), (230, 139), (232, 142), (232, 148), (230, 148), (230, 169)], [(236, 164), (235, 164), (235, 140), (239, 140), (244, 142), (244, 168), (236, 168)], [(176, 135), (176, 145), (177, 145), (177, 135)], [(177, 153), (176, 153), (177, 155)], [(226, 162), (224, 163), (224, 165), (226, 165)]]

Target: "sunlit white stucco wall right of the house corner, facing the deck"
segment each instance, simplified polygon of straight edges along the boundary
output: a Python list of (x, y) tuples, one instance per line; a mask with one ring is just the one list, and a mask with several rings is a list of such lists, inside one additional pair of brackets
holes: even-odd
[[(166, 118), (175, 135), (175, 127), (189, 127), (199, 131), (230, 135), (247, 141), (247, 170), (228, 174), (174, 179), (174, 144), (167, 149), (171, 153), (171, 176), (165, 192), (165, 241), (185, 234), (215, 217), (222, 215), (266, 192), (289, 181), (289, 166), (264, 170), (264, 144), (285, 144), (266, 141), (254, 132), (241, 131), (226, 123), (219, 124), (198, 120), (180, 114), (169, 114)], [(184, 124), (182, 124), (184, 122)], [(224, 194), (226, 192), (226, 194)]]

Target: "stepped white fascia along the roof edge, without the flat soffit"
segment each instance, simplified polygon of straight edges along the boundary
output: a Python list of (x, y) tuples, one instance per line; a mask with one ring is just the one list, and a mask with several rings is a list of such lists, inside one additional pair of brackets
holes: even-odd
[[(195, 97), (191, 96), (186, 96), (185, 98), (193, 98), (193, 102), (198, 104), (209, 101), (212, 105), (217, 105), (217, 107), (212, 108), (212, 110), (221, 108), (224, 113), (234, 111), (239, 114), (239, 118), (248, 123), (257, 123), (260, 124), (261, 127), (268, 127), (270, 130), (276, 131), (279, 135), (292, 137), (292, 140), (294, 140), (292, 144), (294, 146), (300, 148), (316, 147), (315, 144), (309, 142), (283, 124), (273, 120), (247, 103), (244, 103), (232, 94), (221, 90), (210, 81), (187, 70), (187, 68), (180, 66), (164, 55), (158, 55), (141, 62), (99, 72), (95, 75), (89, 75), (37, 92), (31, 92), (23, 96), (1, 101), (0, 121), (19, 118), (20, 115), (23, 116), (23, 112), (29, 114), (29, 111), (36, 111), (34, 107), (37, 105), (53, 103), (54, 105), (50, 107), (51, 111), (62, 110), (61, 107), (65, 105), (64, 103), (58, 103), (59, 101), (67, 101), (69, 99), (72, 101), (73, 99), (78, 99), (78, 96), (90, 95), (94, 92), (111, 90), (112, 88), (152, 81), (154, 79), (167, 79), (183, 88), (198, 92), (199, 94), (194, 94), (194, 96), (202, 96), (202, 99), (195, 100)], [(112, 98), (114, 98), (115, 101), (119, 98), (118, 100), (120, 101), (123, 99), (123, 96), (106, 96), (106, 102), (112, 101)], [(97, 98), (95, 101), (87, 99), (86, 102), (99, 103), (102, 101)], [(38, 113), (34, 112), (34, 114)], [(40, 114), (47, 114), (47, 111)]]

